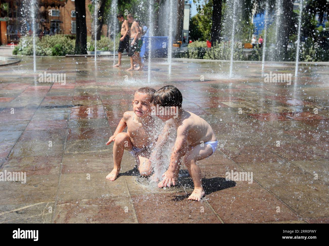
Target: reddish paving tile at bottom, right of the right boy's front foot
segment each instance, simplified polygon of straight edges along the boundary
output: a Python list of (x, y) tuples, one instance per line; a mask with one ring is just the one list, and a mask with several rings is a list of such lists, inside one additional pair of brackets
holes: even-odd
[(207, 195), (206, 199), (224, 223), (297, 219), (294, 212), (264, 188), (225, 189)]

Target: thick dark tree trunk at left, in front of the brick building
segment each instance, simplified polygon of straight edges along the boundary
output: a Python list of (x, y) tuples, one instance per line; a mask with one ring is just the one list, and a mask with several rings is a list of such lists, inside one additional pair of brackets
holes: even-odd
[(87, 54), (87, 25), (86, 25), (86, 1), (74, 1), (76, 35), (74, 53), (77, 55)]

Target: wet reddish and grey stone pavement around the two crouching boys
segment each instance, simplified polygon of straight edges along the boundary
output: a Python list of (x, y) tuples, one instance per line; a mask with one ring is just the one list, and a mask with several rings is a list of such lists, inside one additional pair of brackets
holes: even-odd
[[(260, 62), (174, 59), (147, 71), (112, 68), (85, 57), (30, 57), (0, 67), (0, 172), (26, 172), (26, 183), (0, 182), (1, 223), (328, 223), (329, 63), (309, 63), (291, 85), (265, 83)], [(145, 63), (147, 64), (147, 63)], [(292, 73), (293, 63), (265, 72)], [(65, 85), (39, 73), (64, 73)], [(120, 176), (105, 143), (134, 92), (177, 86), (183, 108), (208, 121), (218, 150), (199, 162), (206, 196), (188, 201), (186, 175), (175, 188), (137, 183), (124, 153)], [(279, 141), (279, 142), (278, 142)], [(182, 167), (182, 169), (185, 169)], [(252, 182), (226, 180), (250, 172)]]

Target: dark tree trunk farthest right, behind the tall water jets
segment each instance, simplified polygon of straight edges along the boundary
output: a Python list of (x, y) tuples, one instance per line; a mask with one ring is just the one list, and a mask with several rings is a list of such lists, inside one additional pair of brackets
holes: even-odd
[[(283, 52), (281, 54), (288, 54), (287, 48), (288, 44), (290, 43), (289, 36), (292, 34), (292, 25), (294, 23), (293, 21), (293, 0), (283, 0), (282, 1), (282, 25), (279, 26), (280, 32), (279, 32), (279, 38), (280, 41), (280, 49), (282, 49)], [(281, 45), (282, 44), (282, 45)], [(285, 55), (283, 55), (285, 56)]]

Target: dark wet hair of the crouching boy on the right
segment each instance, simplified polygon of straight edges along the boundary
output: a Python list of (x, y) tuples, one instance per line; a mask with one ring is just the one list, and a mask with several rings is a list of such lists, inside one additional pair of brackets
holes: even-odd
[(152, 105), (182, 108), (182, 93), (173, 85), (166, 85), (155, 92), (151, 99)]

